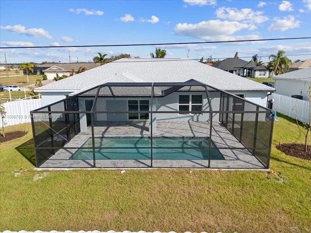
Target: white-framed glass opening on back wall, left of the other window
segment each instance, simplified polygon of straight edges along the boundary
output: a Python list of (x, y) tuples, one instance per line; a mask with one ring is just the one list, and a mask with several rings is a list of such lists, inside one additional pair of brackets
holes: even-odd
[(149, 111), (149, 100), (128, 100), (129, 120), (148, 120), (149, 113), (135, 113), (139, 111)]

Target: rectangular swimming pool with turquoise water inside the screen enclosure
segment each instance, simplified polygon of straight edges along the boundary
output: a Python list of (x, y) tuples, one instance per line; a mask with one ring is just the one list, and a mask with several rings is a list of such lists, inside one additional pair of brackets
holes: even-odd
[[(144, 160), (151, 159), (150, 137), (95, 137), (95, 158), (98, 160)], [(154, 160), (208, 160), (208, 137), (154, 137)], [(93, 159), (92, 138), (70, 159)], [(202, 148), (205, 147), (205, 148)], [(212, 142), (212, 160), (223, 160), (223, 155)]]

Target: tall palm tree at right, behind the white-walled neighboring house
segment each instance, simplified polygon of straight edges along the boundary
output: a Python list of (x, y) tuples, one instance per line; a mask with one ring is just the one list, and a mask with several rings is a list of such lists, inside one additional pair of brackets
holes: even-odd
[(269, 56), (269, 60), (272, 60), (268, 63), (268, 67), (275, 75), (284, 73), (289, 70), (290, 65), (292, 65), (292, 61), (285, 57), (284, 54), (284, 50), (278, 50), (276, 55), (271, 54)]

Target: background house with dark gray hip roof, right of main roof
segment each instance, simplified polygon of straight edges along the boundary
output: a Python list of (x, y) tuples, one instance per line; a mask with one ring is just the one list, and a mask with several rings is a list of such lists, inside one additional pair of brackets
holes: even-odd
[(215, 63), (212, 67), (247, 78), (269, 77), (269, 69), (266, 67), (257, 66), (253, 62), (247, 62), (240, 58), (226, 58), (223, 61)]

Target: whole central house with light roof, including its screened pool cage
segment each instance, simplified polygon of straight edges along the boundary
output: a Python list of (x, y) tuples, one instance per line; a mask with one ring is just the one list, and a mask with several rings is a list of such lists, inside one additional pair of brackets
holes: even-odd
[(268, 168), (275, 89), (190, 59), (123, 58), (36, 88), (36, 166)]

